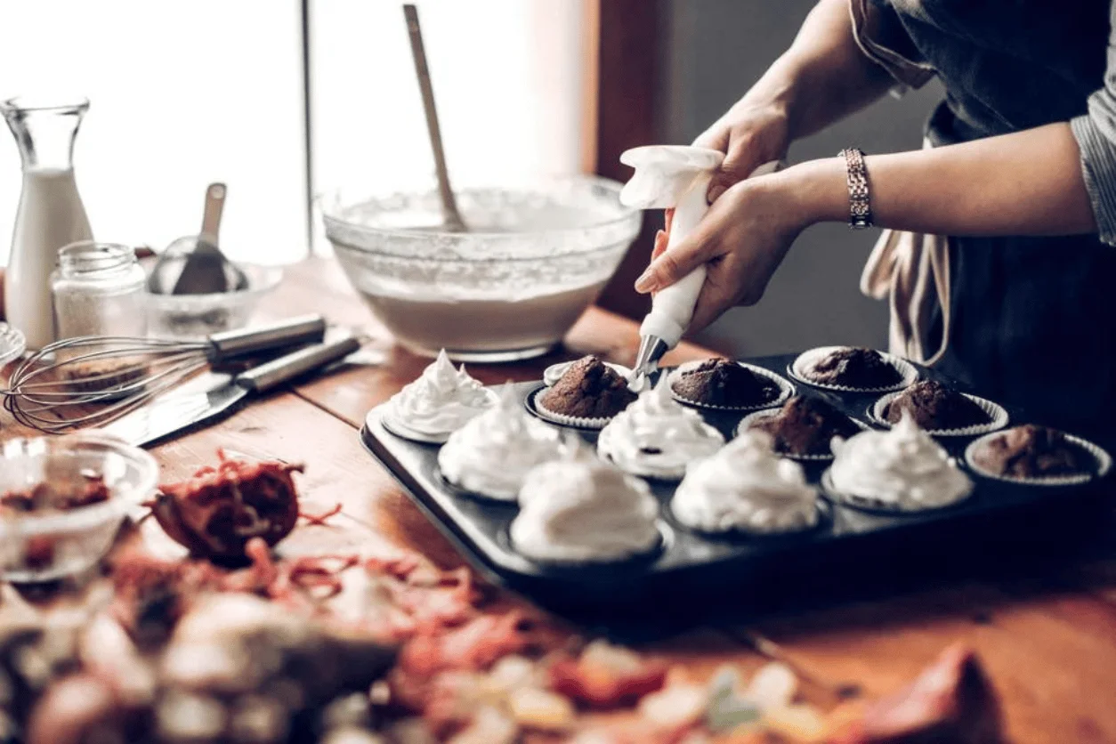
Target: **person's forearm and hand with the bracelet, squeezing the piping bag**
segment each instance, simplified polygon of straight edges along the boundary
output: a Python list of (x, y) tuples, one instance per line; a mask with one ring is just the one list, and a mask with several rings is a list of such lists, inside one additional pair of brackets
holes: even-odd
[[(865, 162), (873, 219), (883, 228), (939, 235), (1097, 231), (1068, 123)], [(757, 302), (805, 228), (847, 220), (843, 158), (741, 181), (686, 241), (647, 268), (636, 289), (655, 291), (709, 262), (691, 323), (699, 330), (733, 305)]]

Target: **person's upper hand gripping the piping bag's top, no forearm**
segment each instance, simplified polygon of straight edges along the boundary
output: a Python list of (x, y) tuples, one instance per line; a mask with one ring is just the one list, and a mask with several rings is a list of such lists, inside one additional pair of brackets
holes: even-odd
[(706, 192), (706, 199), (713, 203), (759, 166), (787, 156), (790, 146), (787, 109), (777, 103), (751, 103), (745, 97), (694, 139), (694, 145), (725, 154)]

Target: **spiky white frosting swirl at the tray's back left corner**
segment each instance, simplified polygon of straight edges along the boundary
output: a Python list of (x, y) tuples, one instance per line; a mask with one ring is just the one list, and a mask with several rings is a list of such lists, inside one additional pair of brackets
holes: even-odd
[(445, 435), (465, 425), (496, 403), (496, 396), (469, 376), (465, 366), (454, 369), (445, 349), (422, 376), (392, 396), (393, 418), (412, 431)]

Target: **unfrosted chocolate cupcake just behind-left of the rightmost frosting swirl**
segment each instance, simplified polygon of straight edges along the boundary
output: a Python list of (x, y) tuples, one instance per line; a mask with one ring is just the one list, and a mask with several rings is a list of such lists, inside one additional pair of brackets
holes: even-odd
[(766, 432), (776, 452), (790, 457), (831, 457), (830, 441), (848, 438), (860, 427), (848, 416), (820, 398), (796, 395), (777, 413), (754, 414), (745, 428)]

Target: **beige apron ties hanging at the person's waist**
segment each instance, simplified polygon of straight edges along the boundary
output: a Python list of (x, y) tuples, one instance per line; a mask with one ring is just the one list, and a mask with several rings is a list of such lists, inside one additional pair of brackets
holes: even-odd
[[(892, 354), (924, 365), (942, 358), (950, 344), (950, 250), (944, 236), (885, 230), (860, 274), (860, 291), (888, 301)], [(941, 308), (942, 338), (931, 351), (935, 305)]]

